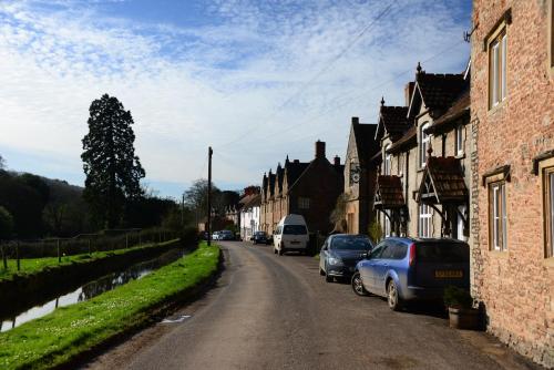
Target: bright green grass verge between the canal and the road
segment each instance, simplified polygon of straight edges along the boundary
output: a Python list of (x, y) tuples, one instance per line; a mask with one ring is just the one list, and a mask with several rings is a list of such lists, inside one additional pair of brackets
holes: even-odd
[(0, 369), (48, 369), (68, 362), (145, 322), (161, 302), (214, 274), (218, 257), (217, 246), (201, 244), (193, 254), (140, 280), (0, 333)]

